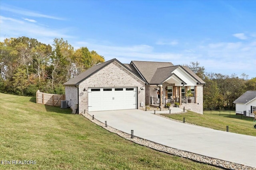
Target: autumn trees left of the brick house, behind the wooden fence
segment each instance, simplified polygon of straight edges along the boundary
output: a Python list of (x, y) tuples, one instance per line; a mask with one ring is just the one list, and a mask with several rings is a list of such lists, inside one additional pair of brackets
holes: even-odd
[(18, 37), (0, 42), (0, 92), (35, 96), (36, 91), (65, 94), (63, 83), (104, 57), (87, 47), (74, 47), (55, 38), (52, 45)]

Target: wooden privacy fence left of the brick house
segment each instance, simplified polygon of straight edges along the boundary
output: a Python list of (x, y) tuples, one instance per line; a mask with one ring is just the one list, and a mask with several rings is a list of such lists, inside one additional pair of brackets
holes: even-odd
[(48, 94), (40, 92), (39, 90), (36, 92), (36, 103), (46, 104), (50, 106), (61, 106), (61, 100), (65, 100), (65, 95), (62, 94)]

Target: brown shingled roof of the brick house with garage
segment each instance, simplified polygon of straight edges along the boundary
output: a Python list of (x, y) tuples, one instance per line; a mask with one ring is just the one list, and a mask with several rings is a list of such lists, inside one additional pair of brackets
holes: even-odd
[[(184, 69), (188, 74), (194, 77), (198, 83), (206, 84), (200, 77), (198, 77), (194, 72), (192, 72), (187, 66), (174, 66), (170, 62), (152, 62), (152, 61), (132, 61), (130, 64), (122, 64), (117, 59), (112, 59), (104, 63), (97, 64), (88, 70), (77, 75), (75, 78), (64, 83), (64, 85), (79, 85), (80, 82), (84, 81), (86, 78), (92, 76), (92, 74), (98, 72), (100, 69), (104, 68), (112, 62), (118, 62), (124, 68), (132, 72), (134, 75), (138, 76), (141, 80), (148, 82), (149, 84), (162, 84), (165, 80), (171, 76), (176, 76), (172, 73), (178, 67)], [(178, 76), (176, 76), (179, 78)], [(179, 78), (180, 79), (180, 78)], [(183, 80), (180, 79), (181, 82)], [(186, 83), (186, 82), (184, 82)]]

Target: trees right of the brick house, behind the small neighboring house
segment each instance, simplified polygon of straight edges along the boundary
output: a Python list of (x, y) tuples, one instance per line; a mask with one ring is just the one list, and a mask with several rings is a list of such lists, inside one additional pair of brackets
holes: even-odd
[(247, 90), (256, 90), (256, 78), (248, 79), (247, 74), (226, 75), (205, 72), (198, 62), (187, 64), (206, 85), (203, 88), (204, 109), (235, 109), (233, 102)]

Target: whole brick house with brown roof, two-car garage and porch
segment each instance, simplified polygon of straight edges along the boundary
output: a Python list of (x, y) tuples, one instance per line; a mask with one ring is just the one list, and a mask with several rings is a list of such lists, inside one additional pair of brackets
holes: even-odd
[[(97, 64), (64, 83), (68, 106), (78, 113), (116, 109), (145, 109), (179, 103), (185, 109), (203, 113), (203, 86), (206, 84), (186, 66), (168, 62), (117, 59)], [(186, 92), (190, 90), (190, 100)]]

